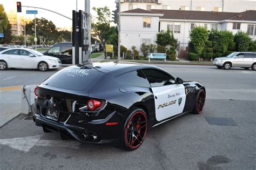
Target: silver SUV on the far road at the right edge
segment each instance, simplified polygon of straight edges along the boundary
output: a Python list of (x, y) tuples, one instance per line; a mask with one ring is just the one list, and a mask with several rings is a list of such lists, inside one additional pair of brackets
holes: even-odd
[(227, 57), (218, 57), (213, 60), (213, 65), (225, 70), (231, 67), (256, 70), (256, 52), (233, 52)]

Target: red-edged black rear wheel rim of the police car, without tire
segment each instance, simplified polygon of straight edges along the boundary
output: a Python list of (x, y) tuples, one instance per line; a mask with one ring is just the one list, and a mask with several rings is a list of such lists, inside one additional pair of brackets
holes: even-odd
[(126, 144), (134, 149), (142, 145), (147, 132), (147, 118), (145, 113), (136, 112), (129, 119), (125, 129)]

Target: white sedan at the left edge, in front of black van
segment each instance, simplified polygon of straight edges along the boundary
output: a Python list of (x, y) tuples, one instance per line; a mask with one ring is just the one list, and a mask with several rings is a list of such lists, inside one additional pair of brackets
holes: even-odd
[(0, 52), (0, 70), (8, 68), (57, 69), (61, 62), (56, 57), (45, 56), (32, 49), (8, 49)]

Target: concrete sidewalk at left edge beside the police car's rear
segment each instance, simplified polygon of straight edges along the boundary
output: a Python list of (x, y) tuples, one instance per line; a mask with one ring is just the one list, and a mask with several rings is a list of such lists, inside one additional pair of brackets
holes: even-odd
[[(36, 85), (27, 85), (31, 88), (31, 104), (33, 103)], [(22, 111), (22, 87), (0, 88), (0, 127), (14, 119)]]

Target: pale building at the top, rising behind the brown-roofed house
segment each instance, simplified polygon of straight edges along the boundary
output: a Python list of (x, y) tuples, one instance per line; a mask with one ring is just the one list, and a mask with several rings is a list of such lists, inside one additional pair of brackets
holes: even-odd
[(242, 12), (256, 10), (254, 0), (120, 0), (121, 11), (132, 9)]

